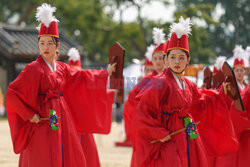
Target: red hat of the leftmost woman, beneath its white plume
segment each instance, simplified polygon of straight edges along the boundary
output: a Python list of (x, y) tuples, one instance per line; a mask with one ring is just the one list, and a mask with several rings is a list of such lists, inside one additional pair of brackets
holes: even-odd
[(38, 34), (38, 37), (41, 36), (52, 36), (59, 38), (58, 28), (57, 28), (57, 22), (52, 21), (49, 25), (49, 27), (46, 27), (43, 23), (41, 24), (40, 31)]

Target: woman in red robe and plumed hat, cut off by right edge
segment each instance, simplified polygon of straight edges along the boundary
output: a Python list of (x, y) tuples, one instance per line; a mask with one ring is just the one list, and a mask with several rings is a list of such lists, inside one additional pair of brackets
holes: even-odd
[(234, 129), (239, 141), (239, 150), (236, 153), (230, 153), (224, 156), (216, 157), (214, 162), (211, 164), (212, 167), (245, 167), (250, 165), (248, 154), (250, 153), (250, 121), (248, 117), (248, 106), (249, 106), (249, 90), (245, 90), (247, 84), (244, 82), (244, 76), (246, 73), (246, 66), (244, 62), (244, 50), (241, 46), (236, 45), (234, 49), (234, 65), (233, 70), (237, 80), (237, 84), (242, 94), (243, 104), (245, 111), (237, 111), (234, 105), (231, 105), (231, 100), (228, 99), (230, 105), (230, 114), (233, 121)]

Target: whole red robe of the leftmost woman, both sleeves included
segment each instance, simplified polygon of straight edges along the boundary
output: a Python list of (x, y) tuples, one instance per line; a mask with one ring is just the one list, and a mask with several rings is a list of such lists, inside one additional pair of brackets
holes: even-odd
[[(56, 65), (51, 72), (39, 56), (8, 87), (7, 114), (14, 152), (21, 153), (20, 167), (86, 166), (75, 127), (88, 133), (110, 131), (107, 71), (93, 75), (62, 62)], [(52, 130), (49, 121), (29, 121), (35, 113), (48, 117), (50, 109), (61, 118), (58, 130)]]

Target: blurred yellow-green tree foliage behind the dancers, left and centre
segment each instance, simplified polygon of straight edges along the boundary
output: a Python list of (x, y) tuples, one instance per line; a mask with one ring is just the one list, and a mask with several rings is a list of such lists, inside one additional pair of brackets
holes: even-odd
[[(167, 0), (161, 1), (167, 5)], [(152, 1), (132, 1), (132, 0), (6, 0), (0, 2), (0, 9), (4, 9), (0, 16), (1, 21), (8, 22), (17, 15), (16, 24), (25, 23), (27, 25), (38, 25), (35, 20), (36, 8), (43, 2), (50, 3), (57, 7), (55, 16), (60, 20), (59, 26), (64, 32), (81, 43), (86, 51), (89, 60), (92, 62), (108, 61), (108, 49), (115, 42), (120, 42), (126, 49), (125, 60), (131, 61), (133, 58), (144, 58), (146, 47), (153, 43), (152, 29), (154, 26), (164, 28), (165, 33), (169, 33), (170, 23), (159, 23), (149, 21), (141, 16), (141, 9)], [(113, 4), (113, 5), (112, 5)], [(126, 23), (120, 20), (115, 22), (114, 13), (104, 13), (107, 5), (112, 11), (121, 9), (122, 5), (136, 6), (138, 10), (137, 20)], [(20, 6), (24, 6), (20, 8)], [(122, 8), (124, 9), (124, 8)], [(209, 13), (213, 10), (211, 5), (195, 5), (177, 10), (175, 16), (192, 17), (204, 19), (208, 25), (217, 23), (211, 19)], [(209, 57), (214, 57), (213, 41), (206, 27), (193, 26), (193, 36), (190, 37), (190, 48), (193, 56), (192, 62), (209, 63)]]

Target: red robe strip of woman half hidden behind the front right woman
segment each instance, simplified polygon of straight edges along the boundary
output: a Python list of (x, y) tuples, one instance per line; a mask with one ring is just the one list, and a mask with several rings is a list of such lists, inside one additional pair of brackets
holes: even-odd
[(135, 97), (142, 89), (146, 89), (146, 85), (157, 74), (158, 72), (156, 70), (153, 70), (151, 73), (143, 77), (143, 79), (129, 92), (128, 99), (124, 104), (124, 110), (123, 110), (126, 142), (131, 142), (135, 131), (134, 130), (135, 127), (133, 127), (133, 119), (137, 104), (139, 102), (139, 100), (136, 99)]

